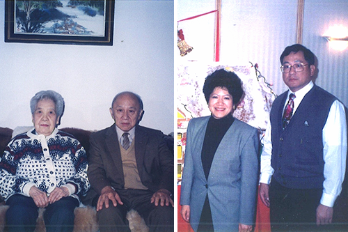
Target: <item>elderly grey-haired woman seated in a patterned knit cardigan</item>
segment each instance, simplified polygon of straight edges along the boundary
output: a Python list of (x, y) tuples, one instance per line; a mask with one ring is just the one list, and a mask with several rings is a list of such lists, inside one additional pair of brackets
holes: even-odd
[(30, 106), (35, 128), (13, 138), (0, 162), (8, 231), (34, 231), (38, 208), (46, 208), (47, 231), (72, 231), (74, 208), (90, 187), (86, 152), (56, 128), (64, 109), (59, 93), (40, 91)]

